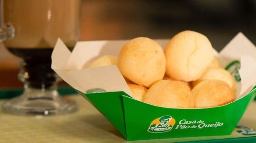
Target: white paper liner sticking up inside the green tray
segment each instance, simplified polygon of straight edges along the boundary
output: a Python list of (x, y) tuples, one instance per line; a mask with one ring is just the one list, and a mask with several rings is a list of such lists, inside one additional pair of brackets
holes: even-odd
[[(155, 41), (165, 48), (169, 40)], [(88, 89), (102, 88), (107, 92), (124, 91), (132, 96), (116, 66), (82, 69), (100, 56), (118, 56), (126, 42), (127, 40), (81, 41), (71, 53), (61, 39), (58, 39), (52, 54), (52, 69), (65, 82), (83, 93)], [(215, 51), (215, 56), (223, 68), (232, 60), (241, 61), (241, 82), (237, 83), (238, 98), (256, 84), (256, 47), (242, 33), (235, 36), (219, 54)]]

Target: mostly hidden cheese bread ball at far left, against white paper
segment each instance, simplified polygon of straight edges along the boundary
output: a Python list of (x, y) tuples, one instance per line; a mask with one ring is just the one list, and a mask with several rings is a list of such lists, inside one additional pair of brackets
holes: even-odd
[(117, 56), (112, 55), (105, 55), (96, 60), (94, 60), (88, 67), (101, 67), (101, 66), (109, 66), (109, 65), (116, 65), (117, 64)]

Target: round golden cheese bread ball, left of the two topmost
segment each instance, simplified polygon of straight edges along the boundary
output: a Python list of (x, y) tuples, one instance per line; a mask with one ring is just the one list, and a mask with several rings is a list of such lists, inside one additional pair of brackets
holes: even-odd
[(117, 66), (124, 77), (141, 86), (150, 87), (162, 80), (165, 57), (162, 48), (154, 40), (138, 37), (122, 47)]

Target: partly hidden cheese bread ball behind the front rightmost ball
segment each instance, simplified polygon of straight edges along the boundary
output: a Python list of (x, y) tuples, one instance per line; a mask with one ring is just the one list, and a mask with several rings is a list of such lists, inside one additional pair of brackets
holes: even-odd
[(196, 81), (192, 82), (193, 87), (205, 80), (221, 80), (229, 84), (233, 94), (236, 94), (236, 82), (234, 77), (225, 69), (208, 68), (203, 75)]

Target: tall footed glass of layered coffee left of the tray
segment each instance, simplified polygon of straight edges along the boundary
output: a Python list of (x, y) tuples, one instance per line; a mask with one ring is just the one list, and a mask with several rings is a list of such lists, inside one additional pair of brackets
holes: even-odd
[(51, 55), (60, 37), (72, 49), (80, 38), (80, 0), (4, 0), (4, 22), (15, 29), (4, 45), (22, 58), (18, 78), (24, 93), (3, 104), (19, 115), (55, 115), (77, 110), (76, 102), (59, 96), (60, 78), (51, 69)]

